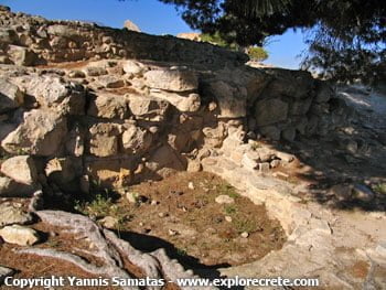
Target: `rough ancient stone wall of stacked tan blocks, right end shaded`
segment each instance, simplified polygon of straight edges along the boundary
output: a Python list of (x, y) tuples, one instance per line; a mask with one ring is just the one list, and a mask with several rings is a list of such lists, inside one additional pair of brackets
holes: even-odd
[(326, 135), (350, 115), (309, 73), (210, 44), (6, 8), (0, 24), (0, 195), (125, 192), (221, 153), (269, 169), (288, 157), (246, 147)]

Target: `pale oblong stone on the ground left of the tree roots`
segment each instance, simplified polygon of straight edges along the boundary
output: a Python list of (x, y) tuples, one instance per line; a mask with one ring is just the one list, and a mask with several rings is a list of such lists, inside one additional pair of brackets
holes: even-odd
[(12, 225), (0, 229), (0, 237), (9, 244), (32, 246), (40, 240), (36, 230), (25, 226)]

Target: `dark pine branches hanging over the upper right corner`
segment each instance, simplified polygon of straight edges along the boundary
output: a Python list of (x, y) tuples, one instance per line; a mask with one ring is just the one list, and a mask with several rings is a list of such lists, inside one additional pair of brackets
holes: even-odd
[(382, 0), (160, 0), (187, 24), (227, 43), (262, 45), (288, 29), (307, 32), (302, 68), (334, 80), (385, 79), (386, 6)]

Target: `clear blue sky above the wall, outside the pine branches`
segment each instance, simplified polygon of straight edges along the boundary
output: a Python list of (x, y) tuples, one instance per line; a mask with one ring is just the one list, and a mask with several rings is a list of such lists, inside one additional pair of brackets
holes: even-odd
[[(107, 26), (121, 28), (125, 20), (136, 23), (141, 31), (151, 34), (172, 34), (192, 31), (173, 6), (158, 0), (0, 0), (12, 11), (39, 14), (47, 19), (87, 20)], [(267, 45), (268, 64), (298, 68), (297, 58), (307, 46), (301, 33), (289, 31), (275, 36)]]

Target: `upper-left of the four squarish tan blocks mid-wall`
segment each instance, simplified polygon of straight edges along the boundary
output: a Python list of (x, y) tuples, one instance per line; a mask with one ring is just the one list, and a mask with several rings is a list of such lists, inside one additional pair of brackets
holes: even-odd
[(100, 93), (90, 100), (87, 115), (106, 119), (126, 119), (129, 116), (128, 103), (125, 96)]

